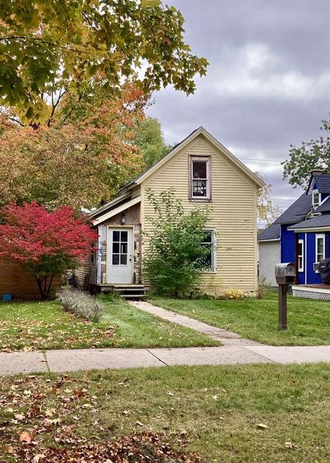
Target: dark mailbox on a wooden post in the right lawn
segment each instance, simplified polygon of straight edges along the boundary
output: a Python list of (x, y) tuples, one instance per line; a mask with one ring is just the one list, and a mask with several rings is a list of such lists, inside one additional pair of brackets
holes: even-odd
[(287, 330), (287, 290), (296, 277), (294, 263), (278, 263), (275, 277), (278, 283), (278, 330)]

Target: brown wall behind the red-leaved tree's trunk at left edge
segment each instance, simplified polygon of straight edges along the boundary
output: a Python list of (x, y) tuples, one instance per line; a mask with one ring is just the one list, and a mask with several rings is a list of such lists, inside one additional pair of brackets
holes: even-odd
[[(52, 292), (61, 285), (61, 277), (56, 277)], [(40, 299), (39, 289), (34, 278), (25, 272), (19, 263), (0, 261), (0, 299), (3, 294), (12, 294), (13, 299)]]

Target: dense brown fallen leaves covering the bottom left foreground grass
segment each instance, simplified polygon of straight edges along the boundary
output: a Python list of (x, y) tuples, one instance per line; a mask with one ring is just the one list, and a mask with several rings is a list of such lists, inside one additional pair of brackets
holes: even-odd
[[(74, 379), (23, 376), (0, 384), (0, 461), (13, 463), (199, 463), (187, 453), (186, 431), (138, 433), (109, 440), (109, 427), (98, 417), (100, 396), (88, 375)], [(118, 387), (129, 385), (125, 378)], [(100, 387), (102, 387), (100, 385)], [(122, 412), (129, 416), (131, 411)], [(91, 416), (94, 419), (91, 420)], [(1, 454), (1, 451), (3, 453)]]

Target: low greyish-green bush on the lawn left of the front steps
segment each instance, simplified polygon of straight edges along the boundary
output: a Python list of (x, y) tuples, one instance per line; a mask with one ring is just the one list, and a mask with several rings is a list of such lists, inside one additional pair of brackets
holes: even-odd
[(104, 311), (103, 304), (87, 292), (65, 289), (56, 293), (56, 299), (61, 302), (64, 310), (89, 321), (100, 321)]

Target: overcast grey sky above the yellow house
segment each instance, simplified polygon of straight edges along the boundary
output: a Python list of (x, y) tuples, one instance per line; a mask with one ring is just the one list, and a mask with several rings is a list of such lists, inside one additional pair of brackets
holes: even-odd
[(330, 1), (167, 0), (186, 19), (192, 53), (210, 62), (197, 91), (154, 94), (148, 115), (166, 142), (203, 125), (272, 183), (285, 208), (301, 194), (282, 180), (289, 144), (320, 135), (330, 110)]

